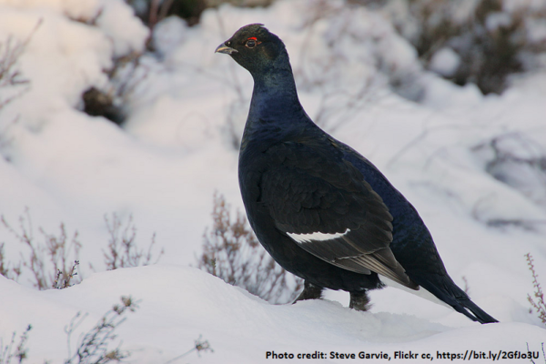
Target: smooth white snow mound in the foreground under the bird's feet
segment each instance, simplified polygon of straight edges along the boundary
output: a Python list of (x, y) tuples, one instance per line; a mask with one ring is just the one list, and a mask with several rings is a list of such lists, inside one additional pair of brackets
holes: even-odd
[[(546, 330), (522, 323), (470, 323), (457, 329), (412, 315), (358, 312), (328, 300), (270, 305), (196, 268), (180, 266), (117, 269), (97, 273), (71, 288), (40, 292), (0, 277), (0, 289), (7, 298), (0, 336), (32, 324), (31, 362), (61, 361), (63, 329), (76, 312), (89, 313), (81, 328), (89, 329), (122, 294), (140, 299), (140, 308), (117, 333), (123, 348), (133, 352), (129, 362), (142, 364), (177, 357), (191, 349), (199, 335), (214, 349), (201, 355), (203, 363), (266, 362), (266, 352), (273, 350), (366, 350), (391, 356), (397, 350), (434, 356), (437, 350), (526, 351), (526, 342), (537, 349), (546, 340)], [(17, 314), (21, 311), (25, 316)]]

